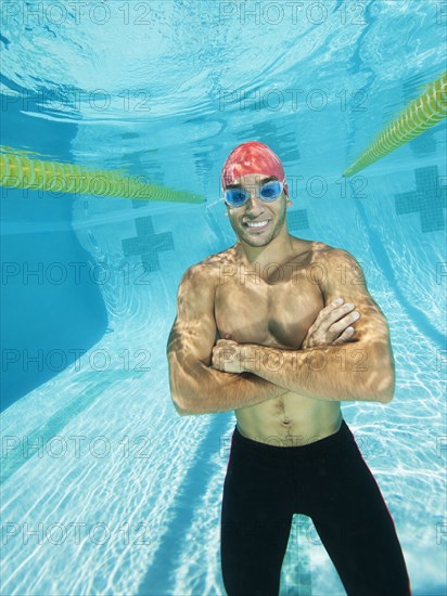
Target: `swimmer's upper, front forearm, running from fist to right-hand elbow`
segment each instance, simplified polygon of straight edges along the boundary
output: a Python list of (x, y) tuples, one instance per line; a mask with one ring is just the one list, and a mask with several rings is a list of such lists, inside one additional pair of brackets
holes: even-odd
[(282, 350), (258, 345), (242, 347), (243, 367), (274, 385), (324, 401), (389, 401), (389, 367), (373, 348), (356, 342), (306, 350)]

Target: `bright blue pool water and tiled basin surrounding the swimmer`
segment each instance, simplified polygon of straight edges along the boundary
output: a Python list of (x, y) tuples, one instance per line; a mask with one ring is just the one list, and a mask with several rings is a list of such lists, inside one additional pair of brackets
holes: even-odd
[[(2, 189), (2, 593), (224, 595), (234, 416), (178, 416), (165, 347), (186, 269), (235, 242), (219, 174), (255, 139), (284, 164), (289, 231), (350, 251), (387, 318), (395, 398), (343, 414), (413, 594), (445, 594), (445, 124), (342, 172), (443, 70), (446, 3), (1, 11), (5, 151), (206, 198)], [(281, 580), (282, 596), (345, 594), (305, 516)]]

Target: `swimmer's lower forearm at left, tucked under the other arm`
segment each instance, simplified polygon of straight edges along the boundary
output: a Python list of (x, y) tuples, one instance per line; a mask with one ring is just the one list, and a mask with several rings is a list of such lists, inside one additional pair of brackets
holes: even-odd
[(224, 373), (203, 363), (190, 370), (178, 387), (176, 402), (181, 415), (239, 410), (288, 392), (284, 387), (252, 373)]

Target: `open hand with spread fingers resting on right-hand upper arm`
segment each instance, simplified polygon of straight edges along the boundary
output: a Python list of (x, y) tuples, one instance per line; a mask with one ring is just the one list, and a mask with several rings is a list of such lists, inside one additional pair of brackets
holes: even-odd
[[(316, 348), (318, 346), (340, 346), (345, 341), (349, 341), (354, 336), (354, 328), (349, 327), (356, 319), (354, 313), (354, 305), (348, 303), (341, 306), (331, 302), (320, 310), (317, 319), (310, 325), (306, 337), (301, 346), (302, 350)], [(352, 331), (349, 331), (352, 329)]]

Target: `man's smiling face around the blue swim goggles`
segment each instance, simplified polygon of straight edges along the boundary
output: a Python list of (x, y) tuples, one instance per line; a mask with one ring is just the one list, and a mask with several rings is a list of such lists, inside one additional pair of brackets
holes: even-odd
[[(271, 180), (269, 174), (247, 173), (239, 178), (234, 184), (250, 192), (250, 198), (242, 207), (227, 206), (231, 228), (237, 236), (250, 246), (265, 246), (281, 232), (286, 209), (284, 191), (272, 202), (265, 202), (257, 196), (257, 191), (265, 182)], [(261, 224), (261, 225), (260, 225)]]

